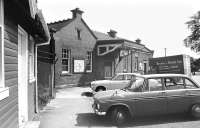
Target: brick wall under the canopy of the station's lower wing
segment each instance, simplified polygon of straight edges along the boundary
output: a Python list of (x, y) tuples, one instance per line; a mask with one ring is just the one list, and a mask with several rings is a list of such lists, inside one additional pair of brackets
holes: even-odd
[[(141, 74), (144, 74), (143, 69), (138, 68), (138, 70), (135, 68), (136, 63), (136, 52), (132, 52), (132, 55), (129, 54), (124, 57), (119, 57), (119, 50), (116, 50), (112, 54), (108, 54), (105, 56), (97, 56), (96, 60), (96, 72), (95, 72), (95, 78), (96, 79), (104, 79), (104, 63), (111, 62), (112, 63), (112, 76), (116, 73), (122, 73), (124, 72), (124, 67), (126, 65), (127, 69), (126, 72), (138, 72)], [(152, 58), (152, 54), (147, 54), (145, 52), (137, 51), (138, 56), (138, 63), (142, 63), (144, 65), (144, 62), (147, 64), (147, 71), (149, 69), (148, 59)], [(148, 72), (147, 72), (148, 73)]]

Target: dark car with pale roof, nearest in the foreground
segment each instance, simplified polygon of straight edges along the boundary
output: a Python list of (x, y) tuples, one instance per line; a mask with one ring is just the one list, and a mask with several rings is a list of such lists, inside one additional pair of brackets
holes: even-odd
[(200, 118), (200, 86), (183, 74), (142, 75), (124, 89), (93, 96), (97, 115), (106, 115), (116, 125), (131, 117), (190, 113)]

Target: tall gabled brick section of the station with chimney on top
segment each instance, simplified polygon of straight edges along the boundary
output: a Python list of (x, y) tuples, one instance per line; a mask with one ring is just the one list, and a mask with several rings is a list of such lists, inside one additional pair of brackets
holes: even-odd
[(94, 79), (92, 61), (97, 38), (82, 19), (83, 11), (76, 8), (71, 12), (72, 19), (48, 24), (56, 31), (56, 85), (83, 84)]

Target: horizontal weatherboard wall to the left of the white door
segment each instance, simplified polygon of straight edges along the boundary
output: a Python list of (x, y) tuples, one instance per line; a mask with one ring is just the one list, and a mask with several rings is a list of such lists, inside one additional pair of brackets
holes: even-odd
[(5, 84), (9, 87), (9, 97), (0, 101), (0, 128), (18, 126), (18, 29), (5, 10)]

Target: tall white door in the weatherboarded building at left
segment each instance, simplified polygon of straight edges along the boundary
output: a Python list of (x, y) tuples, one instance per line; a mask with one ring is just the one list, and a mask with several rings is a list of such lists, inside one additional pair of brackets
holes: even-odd
[(28, 121), (28, 35), (18, 27), (18, 115), (19, 127)]

